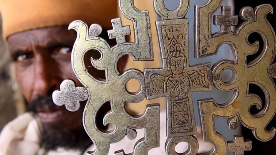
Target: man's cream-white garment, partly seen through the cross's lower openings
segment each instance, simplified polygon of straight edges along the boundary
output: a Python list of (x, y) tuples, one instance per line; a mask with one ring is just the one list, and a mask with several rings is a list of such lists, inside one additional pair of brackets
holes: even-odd
[[(209, 151), (213, 145), (208, 142), (203, 142), (201, 130), (197, 128), (199, 134), (196, 138), (199, 141), (199, 152), (203, 153)], [(137, 130), (137, 137), (129, 140), (125, 137), (118, 143), (110, 144), (109, 155), (114, 154), (115, 151), (124, 149), (125, 153), (131, 153), (137, 140), (144, 137), (144, 129)], [(165, 142), (166, 142), (166, 112), (162, 111), (160, 116), (160, 147), (154, 148), (149, 151), (149, 154), (165, 155)], [(0, 134), (0, 155), (78, 155), (81, 154), (79, 150), (68, 150), (58, 148), (55, 151), (44, 152), (39, 148), (40, 131), (37, 122), (31, 114), (25, 113), (11, 121), (2, 130)], [(188, 148), (187, 144), (178, 147), (178, 151), (185, 151)], [(95, 149), (91, 145), (87, 151)], [(85, 153), (86, 154), (86, 151)]]

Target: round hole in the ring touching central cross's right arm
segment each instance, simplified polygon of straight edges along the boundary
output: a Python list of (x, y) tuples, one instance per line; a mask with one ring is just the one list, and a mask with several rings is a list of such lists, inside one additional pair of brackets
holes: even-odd
[(228, 67), (221, 72), (221, 80), (226, 85), (233, 84), (236, 81), (237, 72), (234, 68)]

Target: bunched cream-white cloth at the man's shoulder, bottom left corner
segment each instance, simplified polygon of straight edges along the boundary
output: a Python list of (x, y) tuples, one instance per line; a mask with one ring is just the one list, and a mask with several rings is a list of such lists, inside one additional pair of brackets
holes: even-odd
[[(36, 155), (39, 138), (34, 127), (35, 121), (30, 113), (25, 113), (9, 124), (0, 134), (0, 155)], [(28, 135), (28, 136), (27, 136)]]

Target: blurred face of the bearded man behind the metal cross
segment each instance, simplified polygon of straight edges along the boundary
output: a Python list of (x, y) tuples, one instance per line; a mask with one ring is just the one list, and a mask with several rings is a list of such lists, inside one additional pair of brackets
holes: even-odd
[(29, 109), (41, 122), (44, 135), (54, 140), (55, 137), (62, 140), (62, 132), (84, 132), (82, 113), (85, 105), (82, 104), (77, 112), (69, 112), (65, 106), (54, 105), (51, 98), (64, 79), (73, 79), (81, 85), (71, 67), (75, 39), (76, 32), (64, 26), (24, 31), (7, 40), (16, 79)]

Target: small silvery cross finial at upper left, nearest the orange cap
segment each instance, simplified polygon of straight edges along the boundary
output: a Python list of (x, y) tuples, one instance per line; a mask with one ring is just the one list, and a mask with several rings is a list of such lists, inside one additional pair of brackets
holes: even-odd
[(121, 18), (111, 20), (113, 29), (108, 30), (109, 39), (116, 39), (117, 44), (125, 43), (125, 36), (130, 35), (130, 26), (122, 26)]

